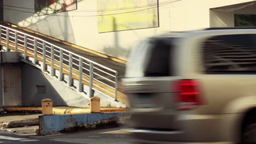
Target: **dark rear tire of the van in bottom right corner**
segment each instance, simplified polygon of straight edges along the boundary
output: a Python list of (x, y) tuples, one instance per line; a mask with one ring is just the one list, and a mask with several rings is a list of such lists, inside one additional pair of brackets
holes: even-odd
[(242, 134), (242, 143), (256, 144), (256, 123), (248, 123)]

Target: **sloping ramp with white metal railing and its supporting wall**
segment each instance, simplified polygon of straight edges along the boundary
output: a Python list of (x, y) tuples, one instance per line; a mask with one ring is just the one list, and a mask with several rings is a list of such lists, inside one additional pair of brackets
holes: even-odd
[[(14, 73), (15, 70), (10, 69), (10, 65), (2, 66), (3, 75), (7, 74), (2, 77), (3, 94), (5, 94), (3, 105), (37, 106), (38, 101), (51, 97), (54, 101), (62, 99), (63, 104), (55, 103), (56, 105), (88, 107), (89, 98), (97, 96), (101, 98), (103, 107), (129, 106), (126, 95), (118, 88), (120, 75), (124, 75), (125, 65), (120, 59), (104, 57), (101, 56), (103, 54), (88, 49), (77, 49), (70, 44), (66, 45), (65, 41), (57, 41), (7, 22), (0, 23), (0, 38), (1, 54), (5, 53), (4, 56), (8, 57), (11, 54), (7, 53), (16, 53), (20, 64), (12, 64), (11, 67), (21, 69), (21, 82), (14, 82), (21, 85), (10, 85), (11, 81), (19, 79), (19, 77), (14, 78), (14, 75), (19, 75), (19, 70)], [(13, 74), (10, 71), (13, 71)], [(5, 82), (10, 77), (15, 80)], [(41, 79), (46, 79), (50, 86)], [(34, 86), (29, 83), (34, 83)], [(14, 92), (19, 91), (19, 88), (14, 87), (20, 87), (21, 93)], [(47, 87), (51, 87), (59, 98), (53, 98), (54, 94), (50, 93)], [(36, 93), (34, 94), (36, 98), (30, 101), (33, 93)], [(12, 104), (11, 101), (16, 102)]]

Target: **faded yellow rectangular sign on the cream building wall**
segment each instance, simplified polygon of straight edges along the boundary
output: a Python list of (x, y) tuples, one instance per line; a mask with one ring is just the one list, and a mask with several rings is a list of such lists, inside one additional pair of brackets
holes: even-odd
[(158, 0), (97, 0), (98, 32), (158, 27)]

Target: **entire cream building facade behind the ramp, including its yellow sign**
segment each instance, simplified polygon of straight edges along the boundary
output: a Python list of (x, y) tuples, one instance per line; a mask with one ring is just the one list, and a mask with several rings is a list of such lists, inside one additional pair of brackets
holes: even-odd
[(254, 26), (256, 19), (255, 1), (248, 0), (69, 0), (65, 7), (39, 2), (3, 0), (4, 21), (123, 60), (146, 37)]

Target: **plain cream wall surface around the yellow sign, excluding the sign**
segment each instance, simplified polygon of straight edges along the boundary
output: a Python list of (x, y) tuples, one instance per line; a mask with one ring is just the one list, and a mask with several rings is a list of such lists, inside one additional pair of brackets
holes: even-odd
[[(159, 3), (162, 2), (166, 1), (159, 0)], [(126, 60), (130, 51), (136, 45), (138, 40), (142, 38), (164, 33), (166, 31), (188, 31), (208, 28), (210, 27), (211, 8), (244, 2), (251, 2), (251, 0), (182, 0), (159, 7), (160, 27), (108, 33), (97, 32), (96, 16), (85, 16), (97, 15), (95, 12), (75, 13), (74, 11), (69, 11), (57, 14), (61, 16), (48, 15), (36, 17), (36, 15), (31, 14), (33, 13), (33, 10), (30, 9), (17, 8), (18, 10), (26, 10), (31, 13), (5, 9), (4, 20), (91, 50)], [(4, 0), (4, 4), (34, 8), (33, 0)], [(97, 1), (78, 0), (78, 11), (96, 9)], [(220, 19), (227, 17), (225, 15), (226, 14), (219, 16)], [(230, 17), (230, 19), (231, 18), (232, 17)], [(222, 25), (218, 22), (211, 23), (214, 23), (212, 24), (214, 26)], [(223, 25), (231, 25), (231, 21), (226, 22), (226, 24), (224, 23)]]

